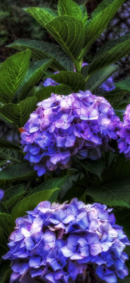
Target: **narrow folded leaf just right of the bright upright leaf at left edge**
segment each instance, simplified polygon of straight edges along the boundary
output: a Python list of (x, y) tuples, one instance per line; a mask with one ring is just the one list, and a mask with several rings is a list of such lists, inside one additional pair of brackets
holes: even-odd
[(44, 74), (43, 69), (47, 70), (52, 61), (53, 59), (44, 59), (34, 63), (30, 63), (30, 66), (25, 74), (23, 82), (21, 83), (18, 89), (17, 102), (23, 100), (26, 97), (27, 93), (34, 87), (34, 85), (36, 85), (36, 83), (41, 80)]

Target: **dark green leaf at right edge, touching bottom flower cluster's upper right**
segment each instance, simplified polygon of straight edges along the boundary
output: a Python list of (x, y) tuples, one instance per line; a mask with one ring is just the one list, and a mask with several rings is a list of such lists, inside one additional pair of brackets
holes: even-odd
[(126, 208), (114, 213), (116, 217), (116, 224), (123, 226), (123, 230), (127, 235), (128, 239), (130, 238), (130, 209)]

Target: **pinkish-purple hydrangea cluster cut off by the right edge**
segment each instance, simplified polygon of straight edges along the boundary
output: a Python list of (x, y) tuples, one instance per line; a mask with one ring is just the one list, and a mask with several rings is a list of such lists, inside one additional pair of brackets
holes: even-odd
[(130, 104), (126, 107), (123, 121), (121, 130), (119, 131), (120, 139), (118, 140), (118, 148), (120, 149), (120, 153), (123, 152), (125, 157), (130, 160)]

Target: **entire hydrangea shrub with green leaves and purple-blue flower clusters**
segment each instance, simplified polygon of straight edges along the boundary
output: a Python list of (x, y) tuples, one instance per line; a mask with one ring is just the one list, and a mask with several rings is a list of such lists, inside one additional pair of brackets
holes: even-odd
[(0, 65), (22, 144), (0, 138), (0, 283), (130, 283), (130, 79), (113, 81), (130, 35), (92, 51), (124, 2), (27, 8), (49, 42), (16, 40)]

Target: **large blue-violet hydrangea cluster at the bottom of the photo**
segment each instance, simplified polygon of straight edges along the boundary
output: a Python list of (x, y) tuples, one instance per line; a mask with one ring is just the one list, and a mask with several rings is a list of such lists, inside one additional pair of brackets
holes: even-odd
[(111, 211), (74, 198), (70, 204), (43, 201), (17, 218), (3, 256), (11, 260), (10, 282), (81, 283), (87, 276), (97, 282), (98, 275), (116, 283), (116, 276), (127, 276), (129, 241)]

